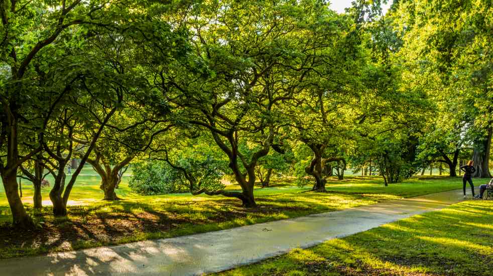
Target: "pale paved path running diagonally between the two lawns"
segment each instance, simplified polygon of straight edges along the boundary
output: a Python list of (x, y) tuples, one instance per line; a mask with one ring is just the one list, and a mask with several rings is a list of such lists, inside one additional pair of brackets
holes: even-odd
[(0, 260), (0, 275), (197, 275), (351, 235), (462, 200), (461, 190), (183, 237)]

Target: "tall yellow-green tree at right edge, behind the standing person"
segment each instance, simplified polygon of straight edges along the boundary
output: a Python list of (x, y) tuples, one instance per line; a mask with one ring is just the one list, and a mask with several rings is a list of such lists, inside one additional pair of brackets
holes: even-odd
[[(490, 1), (400, 1), (396, 30), (403, 53), (414, 63), (413, 78), (440, 81), (448, 110), (464, 113), (474, 152), (476, 177), (490, 177), (493, 123), (491, 80), (493, 57)], [(465, 135), (465, 133), (464, 133)]]

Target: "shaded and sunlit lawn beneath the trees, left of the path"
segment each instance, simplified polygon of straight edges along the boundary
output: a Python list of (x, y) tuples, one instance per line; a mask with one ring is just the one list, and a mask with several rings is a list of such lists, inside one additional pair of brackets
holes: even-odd
[[(242, 208), (237, 199), (222, 196), (192, 196), (189, 193), (140, 196), (124, 177), (118, 196), (125, 200), (101, 201), (99, 177), (89, 170), (78, 178), (71, 193), (68, 216), (54, 218), (49, 188), (43, 190), (45, 207), (31, 208), (31, 185), (24, 184), (23, 201), (39, 225), (37, 231), (10, 231), (11, 213), (0, 192), (0, 258), (90, 248), (138, 240), (226, 229), (241, 225), (341, 210), (384, 200), (457, 189), (460, 178), (409, 179), (384, 187), (379, 177), (347, 177), (328, 181), (328, 193), (305, 192), (293, 179), (274, 181), (270, 188), (257, 188), (257, 209)], [(229, 185), (227, 189), (239, 189)]]

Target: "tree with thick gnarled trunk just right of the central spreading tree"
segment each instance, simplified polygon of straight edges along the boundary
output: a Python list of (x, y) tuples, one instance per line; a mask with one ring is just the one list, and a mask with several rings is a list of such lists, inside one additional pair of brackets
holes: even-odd
[(313, 153), (305, 167), (305, 173), (315, 179), (313, 191), (325, 191), (326, 162), (343, 161), (340, 168), (345, 169), (340, 148), (351, 144), (348, 133), (361, 91), (358, 70), (366, 65), (367, 54), (351, 27), (349, 17), (331, 11), (326, 14), (318, 31), (325, 36), (324, 45), (313, 59), (314, 70), (306, 74), (309, 85), (286, 107), (292, 139)]

